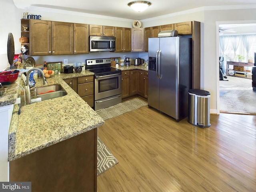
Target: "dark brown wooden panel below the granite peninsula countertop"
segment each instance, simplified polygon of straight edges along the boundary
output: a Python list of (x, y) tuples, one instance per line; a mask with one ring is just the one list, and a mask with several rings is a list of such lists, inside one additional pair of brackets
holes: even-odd
[(10, 182), (29, 181), (37, 192), (97, 191), (97, 130), (10, 161)]

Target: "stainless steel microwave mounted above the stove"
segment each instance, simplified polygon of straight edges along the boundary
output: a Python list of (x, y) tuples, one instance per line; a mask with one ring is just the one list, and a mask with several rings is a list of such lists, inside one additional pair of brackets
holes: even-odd
[(116, 37), (90, 36), (90, 52), (115, 50)]

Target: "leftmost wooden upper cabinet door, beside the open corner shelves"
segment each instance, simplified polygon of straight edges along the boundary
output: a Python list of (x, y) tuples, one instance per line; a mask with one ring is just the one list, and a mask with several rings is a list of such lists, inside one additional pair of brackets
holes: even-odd
[(30, 55), (52, 54), (52, 22), (30, 19)]

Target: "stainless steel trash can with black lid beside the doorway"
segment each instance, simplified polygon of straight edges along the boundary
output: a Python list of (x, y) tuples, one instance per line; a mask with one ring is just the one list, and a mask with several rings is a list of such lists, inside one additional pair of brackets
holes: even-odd
[(200, 128), (210, 127), (210, 92), (188, 90), (188, 122)]

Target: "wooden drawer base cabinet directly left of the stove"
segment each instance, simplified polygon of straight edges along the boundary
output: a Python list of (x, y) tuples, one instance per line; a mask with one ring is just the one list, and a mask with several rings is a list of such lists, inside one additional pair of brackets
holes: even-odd
[(77, 78), (77, 94), (94, 107), (94, 76), (83, 76)]

